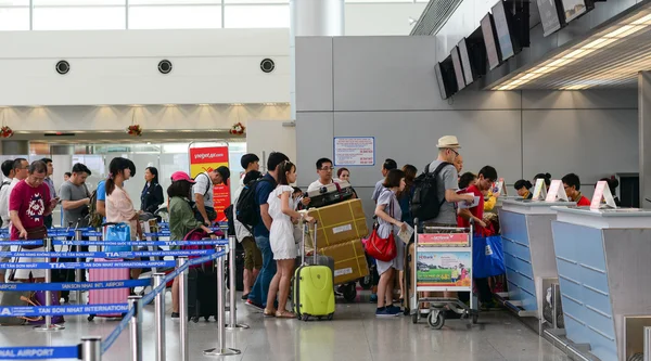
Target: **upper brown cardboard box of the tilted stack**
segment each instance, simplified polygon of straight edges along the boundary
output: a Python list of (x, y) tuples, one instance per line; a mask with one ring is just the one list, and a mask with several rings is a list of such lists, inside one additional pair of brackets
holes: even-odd
[[(321, 208), (312, 208), (309, 216), (317, 219), (317, 247), (333, 246), (369, 233), (361, 199), (350, 199)], [(314, 233), (314, 230), (310, 230)]]

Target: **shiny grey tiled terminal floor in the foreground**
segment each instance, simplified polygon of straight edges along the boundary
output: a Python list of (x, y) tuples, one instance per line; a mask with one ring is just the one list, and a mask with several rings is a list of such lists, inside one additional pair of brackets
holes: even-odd
[[(170, 297), (167, 295), (168, 309)], [(239, 356), (207, 358), (203, 350), (217, 346), (216, 322), (190, 323), (190, 360), (224, 359), (233, 361), (309, 360), (309, 361), (564, 361), (569, 360), (547, 340), (538, 337), (508, 312), (487, 312), (480, 324), (468, 327), (465, 321), (448, 321), (443, 330), (426, 323), (414, 325), (411, 318), (375, 319), (374, 306), (368, 302), (337, 304), (334, 321), (299, 322), (264, 319), (240, 305), (239, 321), (248, 330), (227, 331), (227, 346), (242, 351)], [(153, 306), (145, 308), (143, 328), (144, 359), (154, 360)], [(66, 318), (66, 328), (58, 333), (39, 333), (31, 327), (1, 327), (0, 346), (69, 346), (82, 335), (106, 337), (116, 321), (86, 317)], [(180, 359), (178, 320), (167, 317), (167, 360)], [(128, 331), (123, 332), (103, 360), (129, 360)]]

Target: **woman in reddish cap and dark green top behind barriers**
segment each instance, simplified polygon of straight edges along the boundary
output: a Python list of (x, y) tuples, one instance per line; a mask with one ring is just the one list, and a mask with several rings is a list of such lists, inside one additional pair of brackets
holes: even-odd
[[(194, 181), (184, 171), (176, 171), (171, 175), (171, 184), (167, 188), (169, 197), (169, 233), (171, 240), (183, 240), (190, 231), (201, 228), (215, 238), (213, 231), (194, 218), (194, 211), (190, 205), (190, 192)], [(174, 279), (171, 284), (171, 318), (179, 317), (179, 282)]]

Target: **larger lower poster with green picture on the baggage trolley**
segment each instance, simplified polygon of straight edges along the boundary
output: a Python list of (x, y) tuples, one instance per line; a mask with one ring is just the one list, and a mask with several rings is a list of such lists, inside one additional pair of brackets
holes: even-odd
[(419, 287), (470, 287), (471, 252), (418, 252), (417, 285)]

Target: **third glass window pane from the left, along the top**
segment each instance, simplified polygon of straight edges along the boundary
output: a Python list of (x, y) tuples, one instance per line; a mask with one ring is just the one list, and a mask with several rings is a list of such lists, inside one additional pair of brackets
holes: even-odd
[(129, 7), (129, 29), (221, 27), (220, 5)]

